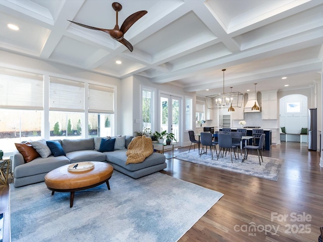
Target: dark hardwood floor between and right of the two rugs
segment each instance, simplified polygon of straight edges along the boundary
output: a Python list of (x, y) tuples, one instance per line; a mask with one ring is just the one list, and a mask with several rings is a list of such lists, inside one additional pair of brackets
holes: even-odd
[[(171, 155), (171, 151), (165, 154)], [(323, 226), (319, 153), (309, 151), (306, 143), (282, 142), (263, 155), (284, 160), (278, 181), (176, 158), (173, 164), (167, 161), (168, 168), (163, 173), (224, 194), (180, 242), (317, 241), (319, 227)]]

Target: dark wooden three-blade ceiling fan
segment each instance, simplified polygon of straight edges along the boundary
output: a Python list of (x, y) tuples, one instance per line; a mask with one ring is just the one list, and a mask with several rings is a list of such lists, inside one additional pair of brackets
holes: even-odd
[(139, 12), (136, 12), (136, 13), (130, 15), (123, 22), (123, 24), (121, 25), (121, 28), (119, 28), (119, 25), (118, 25), (118, 12), (122, 10), (122, 6), (119, 3), (113, 3), (112, 8), (116, 11), (116, 25), (115, 25), (114, 29), (101, 29), (101, 28), (88, 26), (88, 25), (85, 25), (85, 24), (80, 24), (80, 23), (77, 23), (77, 22), (74, 22), (74, 21), (71, 21), (71, 20), (68, 20), (68, 21), (70, 21), (71, 23), (77, 24), (79, 26), (88, 28), (88, 29), (100, 30), (100, 31), (103, 31), (105, 33), (108, 33), (108, 34), (110, 34), (110, 36), (113, 39), (118, 40), (120, 43), (124, 44), (132, 52), (133, 46), (128, 40), (126, 40), (124, 38), (124, 34), (128, 31), (128, 29), (138, 19), (140, 19), (142, 16), (144, 16), (147, 13), (147, 11), (143, 10), (143, 11), (139, 11)]

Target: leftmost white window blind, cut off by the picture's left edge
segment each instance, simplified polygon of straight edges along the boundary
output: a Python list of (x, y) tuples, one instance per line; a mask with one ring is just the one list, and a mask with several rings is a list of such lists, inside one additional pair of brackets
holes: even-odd
[(0, 67), (0, 107), (43, 109), (43, 75)]

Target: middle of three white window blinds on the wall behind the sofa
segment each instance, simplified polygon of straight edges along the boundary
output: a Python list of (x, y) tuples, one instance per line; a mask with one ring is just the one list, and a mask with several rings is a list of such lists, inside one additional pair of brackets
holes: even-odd
[(84, 82), (49, 77), (49, 110), (84, 112)]

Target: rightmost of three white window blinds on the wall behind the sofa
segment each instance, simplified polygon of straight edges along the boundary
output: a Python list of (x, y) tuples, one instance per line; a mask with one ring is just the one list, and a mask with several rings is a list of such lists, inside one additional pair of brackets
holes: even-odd
[(89, 84), (89, 112), (113, 113), (114, 88)]

